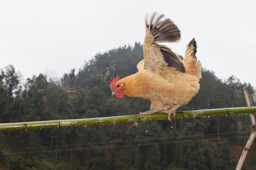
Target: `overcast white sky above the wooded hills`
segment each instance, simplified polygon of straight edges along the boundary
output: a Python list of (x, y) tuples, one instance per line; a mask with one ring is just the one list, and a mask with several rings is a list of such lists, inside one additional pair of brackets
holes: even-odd
[(256, 0), (1, 0), (0, 68), (61, 77), (98, 52), (143, 43), (154, 11), (181, 30), (173, 51), (184, 55), (195, 38), (203, 68), (256, 87)]

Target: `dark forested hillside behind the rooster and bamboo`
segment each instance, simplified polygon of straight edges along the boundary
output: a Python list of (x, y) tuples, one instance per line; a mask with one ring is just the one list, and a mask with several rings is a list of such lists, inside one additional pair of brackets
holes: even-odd
[[(207, 56), (198, 56), (198, 59)], [(0, 123), (138, 114), (150, 102), (112, 96), (110, 76), (137, 72), (142, 45), (96, 54), (60, 82), (43, 74), (21, 84), (12, 65), (0, 74)], [(235, 76), (220, 80), (204, 68), (201, 89), (179, 110), (253, 105), (256, 91)], [(248, 115), (0, 132), (0, 170), (234, 170), (250, 134)], [(256, 142), (243, 170), (253, 170)]]

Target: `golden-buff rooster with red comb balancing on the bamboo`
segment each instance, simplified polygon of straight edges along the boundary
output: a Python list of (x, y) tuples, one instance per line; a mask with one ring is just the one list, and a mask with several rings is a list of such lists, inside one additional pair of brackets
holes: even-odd
[(151, 110), (141, 115), (156, 112), (175, 116), (175, 111), (187, 104), (198, 93), (201, 78), (201, 63), (197, 60), (196, 41), (187, 45), (181, 60), (169, 47), (160, 42), (177, 42), (181, 34), (178, 27), (164, 15), (153, 13), (146, 17), (146, 37), (143, 43), (144, 59), (137, 64), (138, 72), (122, 79), (113, 76), (110, 81), (112, 94), (122, 98), (124, 94), (151, 101)]

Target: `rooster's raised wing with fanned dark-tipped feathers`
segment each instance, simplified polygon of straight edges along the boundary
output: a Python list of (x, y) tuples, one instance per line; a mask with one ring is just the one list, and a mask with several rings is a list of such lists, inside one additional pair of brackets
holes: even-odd
[[(144, 61), (137, 68), (149, 69), (160, 73), (163, 66), (174, 67), (180, 72), (185, 72), (182, 60), (169, 47), (158, 42), (177, 42), (181, 34), (178, 27), (169, 18), (163, 19), (164, 15), (156, 17), (152, 14), (150, 21), (146, 17), (146, 37), (143, 44)], [(142, 67), (144, 64), (144, 67)]]

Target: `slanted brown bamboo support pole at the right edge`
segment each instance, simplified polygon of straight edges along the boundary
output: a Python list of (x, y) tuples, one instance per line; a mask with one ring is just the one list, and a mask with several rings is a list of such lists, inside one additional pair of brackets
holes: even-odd
[[(244, 94), (245, 94), (247, 106), (252, 107), (251, 97), (250, 97), (247, 89), (246, 88), (243, 88), (243, 89), (244, 89)], [(250, 119), (251, 119), (252, 125), (256, 125), (255, 114), (250, 114)], [(241, 170), (241, 168), (243, 166), (243, 163), (246, 159), (247, 153), (249, 152), (249, 149), (250, 149), (255, 137), (256, 137), (256, 131), (252, 129), (252, 133), (251, 133), (251, 135), (250, 135), (250, 137), (249, 137), (249, 139), (246, 143), (246, 146), (245, 146), (245, 148), (244, 148), (244, 150), (241, 154), (241, 157), (238, 161), (238, 165), (237, 165), (236, 170)]]

